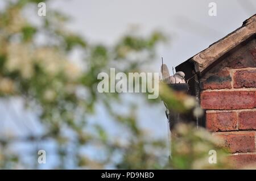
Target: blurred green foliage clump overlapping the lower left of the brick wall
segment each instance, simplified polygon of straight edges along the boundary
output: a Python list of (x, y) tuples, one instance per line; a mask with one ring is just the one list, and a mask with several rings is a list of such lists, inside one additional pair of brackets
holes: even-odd
[[(193, 124), (177, 124), (172, 132), (172, 160), (174, 169), (234, 169), (222, 140)], [(216, 163), (209, 163), (216, 151)]]

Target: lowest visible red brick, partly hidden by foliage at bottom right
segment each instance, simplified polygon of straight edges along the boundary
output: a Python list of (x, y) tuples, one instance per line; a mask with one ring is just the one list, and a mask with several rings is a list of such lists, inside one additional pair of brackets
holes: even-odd
[(234, 167), (242, 168), (249, 165), (256, 164), (256, 154), (238, 154), (238, 155), (232, 155), (229, 157), (231, 163), (233, 163)]

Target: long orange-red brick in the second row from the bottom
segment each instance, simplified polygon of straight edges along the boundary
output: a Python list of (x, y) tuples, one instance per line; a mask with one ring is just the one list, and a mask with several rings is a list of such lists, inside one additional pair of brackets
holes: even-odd
[(224, 147), (230, 153), (247, 153), (255, 151), (254, 132), (229, 132), (217, 134), (224, 140)]

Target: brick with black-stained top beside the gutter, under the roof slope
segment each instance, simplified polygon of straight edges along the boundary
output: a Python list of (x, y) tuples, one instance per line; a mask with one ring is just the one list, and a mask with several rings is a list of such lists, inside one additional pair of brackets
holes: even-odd
[(217, 73), (207, 73), (200, 80), (200, 88), (205, 89), (231, 89), (231, 76), (228, 70), (224, 69)]

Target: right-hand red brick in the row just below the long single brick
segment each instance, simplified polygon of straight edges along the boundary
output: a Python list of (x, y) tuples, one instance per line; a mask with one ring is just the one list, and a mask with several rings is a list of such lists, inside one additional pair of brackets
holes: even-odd
[(239, 113), (239, 129), (256, 129), (256, 111)]

